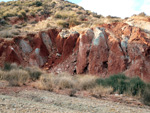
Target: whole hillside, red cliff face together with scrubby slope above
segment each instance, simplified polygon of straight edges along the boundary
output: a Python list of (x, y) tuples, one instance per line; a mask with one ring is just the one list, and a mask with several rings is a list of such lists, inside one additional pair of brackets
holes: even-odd
[[(11, 9), (12, 4), (16, 9), (32, 8), (21, 17), (1, 15), (1, 22), (5, 21), (0, 28), (1, 66), (16, 62), (48, 72), (101, 77), (123, 72), (150, 81), (149, 17), (104, 18), (63, 0), (0, 3), (3, 10)], [(45, 12), (31, 15), (33, 7), (38, 13), (38, 8), (45, 8)], [(13, 34), (13, 30), (19, 33)]]

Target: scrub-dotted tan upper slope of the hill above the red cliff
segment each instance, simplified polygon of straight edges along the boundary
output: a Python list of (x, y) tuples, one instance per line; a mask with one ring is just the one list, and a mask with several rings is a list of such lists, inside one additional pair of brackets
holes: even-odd
[(17, 0), (0, 2), (0, 37), (9, 38), (48, 28), (82, 30), (121, 21), (103, 17), (64, 0)]

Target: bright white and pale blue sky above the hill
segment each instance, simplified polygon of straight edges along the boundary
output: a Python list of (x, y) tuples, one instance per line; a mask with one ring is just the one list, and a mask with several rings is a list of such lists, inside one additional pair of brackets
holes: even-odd
[[(10, 1), (10, 0), (0, 0)], [(129, 17), (145, 12), (150, 15), (150, 0), (68, 0), (103, 16)]]

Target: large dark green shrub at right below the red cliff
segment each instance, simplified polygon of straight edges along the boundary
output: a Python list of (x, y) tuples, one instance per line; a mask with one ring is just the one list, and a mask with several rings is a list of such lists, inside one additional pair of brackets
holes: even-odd
[(99, 85), (111, 86), (114, 92), (127, 93), (132, 96), (142, 96), (146, 84), (139, 78), (128, 78), (124, 74), (117, 74), (106, 79), (97, 79)]

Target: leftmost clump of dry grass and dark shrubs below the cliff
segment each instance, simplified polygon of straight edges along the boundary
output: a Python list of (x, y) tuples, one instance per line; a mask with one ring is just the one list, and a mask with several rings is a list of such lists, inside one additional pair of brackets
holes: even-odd
[(0, 80), (7, 80), (12, 86), (21, 86), (27, 81), (36, 81), (44, 73), (37, 67), (23, 68), (15, 63), (5, 63), (0, 70)]

